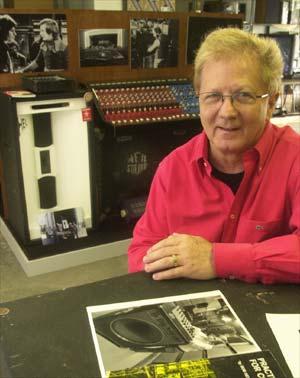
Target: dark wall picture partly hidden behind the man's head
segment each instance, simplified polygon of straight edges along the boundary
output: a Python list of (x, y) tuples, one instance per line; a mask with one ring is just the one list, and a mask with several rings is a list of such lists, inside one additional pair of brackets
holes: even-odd
[(188, 20), (186, 63), (193, 64), (197, 50), (206, 35), (217, 28), (242, 28), (243, 20), (238, 18), (194, 17)]

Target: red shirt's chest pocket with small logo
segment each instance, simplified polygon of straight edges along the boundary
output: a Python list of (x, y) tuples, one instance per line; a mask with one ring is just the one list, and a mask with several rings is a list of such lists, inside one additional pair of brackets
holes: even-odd
[(280, 236), (284, 233), (281, 219), (260, 221), (241, 218), (237, 229), (236, 242), (255, 243)]

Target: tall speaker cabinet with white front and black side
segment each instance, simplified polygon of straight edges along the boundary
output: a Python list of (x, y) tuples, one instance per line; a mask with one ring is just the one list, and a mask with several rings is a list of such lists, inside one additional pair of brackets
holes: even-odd
[(87, 231), (94, 227), (92, 125), (83, 118), (86, 107), (79, 92), (0, 94), (5, 220), (24, 246), (41, 244), (43, 219), (48, 232), (55, 214), (63, 215), (61, 232), (69, 226), (66, 219)]

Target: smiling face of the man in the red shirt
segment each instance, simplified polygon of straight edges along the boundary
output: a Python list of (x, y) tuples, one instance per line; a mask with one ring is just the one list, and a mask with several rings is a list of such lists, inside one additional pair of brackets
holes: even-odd
[[(253, 61), (250, 64), (233, 59), (209, 61), (201, 72), (199, 92), (266, 94), (259, 72), (258, 63)], [(205, 105), (200, 100), (201, 123), (210, 142), (211, 154), (241, 156), (253, 147), (272, 114), (271, 102), (269, 97), (257, 98), (254, 104), (233, 104), (230, 97), (214, 105)]]

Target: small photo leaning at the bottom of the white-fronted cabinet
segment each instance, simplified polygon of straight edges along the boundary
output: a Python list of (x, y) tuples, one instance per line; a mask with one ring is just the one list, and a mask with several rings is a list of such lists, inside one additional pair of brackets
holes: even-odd
[(87, 236), (81, 207), (44, 213), (39, 218), (39, 225), (43, 245)]

